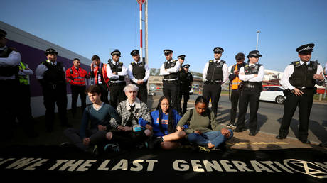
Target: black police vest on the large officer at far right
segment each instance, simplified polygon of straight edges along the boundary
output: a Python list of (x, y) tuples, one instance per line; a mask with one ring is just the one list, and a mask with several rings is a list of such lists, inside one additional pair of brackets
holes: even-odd
[(301, 65), (300, 61), (295, 61), (291, 64), (294, 65), (294, 72), (289, 77), (289, 83), (297, 88), (313, 88), (316, 84), (313, 75), (317, 72), (318, 62), (310, 61), (309, 65)]

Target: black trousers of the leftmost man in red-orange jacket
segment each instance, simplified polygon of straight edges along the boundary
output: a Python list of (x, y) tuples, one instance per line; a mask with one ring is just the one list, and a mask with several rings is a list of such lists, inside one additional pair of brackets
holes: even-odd
[(70, 89), (72, 90), (72, 113), (73, 116), (76, 115), (77, 109), (77, 99), (78, 95), (80, 95), (80, 102), (82, 104), (82, 113), (86, 107), (86, 94), (85, 94), (85, 86), (77, 86), (77, 85), (70, 85)]

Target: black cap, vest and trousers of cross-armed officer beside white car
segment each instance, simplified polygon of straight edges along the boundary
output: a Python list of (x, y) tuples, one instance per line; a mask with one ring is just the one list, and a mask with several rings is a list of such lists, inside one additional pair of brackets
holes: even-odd
[[(259, 51), (252, 51), (247, 57), (261, 57)], [(250, 62), (250, 61), (249, 61)], [(255, 64), (250, 67), (249, 63), (244, 66), (245, 75), (259, 74), (261, 64)], [(250, 134), (254, 136), (257, 132), (257, 111), (259, 109), (259, 98), (262, 91), (262, 82), (249, 82), (242, 81), (242, 87), (240, 87), (240, 103), (239, 103), (239, 115), (237, 118), (237, 124), (235, 132), (240, 132), (245, 130), (245, 114), (247, 113), (247, 105), (250, 108), (250, 120), (249, 128)]]

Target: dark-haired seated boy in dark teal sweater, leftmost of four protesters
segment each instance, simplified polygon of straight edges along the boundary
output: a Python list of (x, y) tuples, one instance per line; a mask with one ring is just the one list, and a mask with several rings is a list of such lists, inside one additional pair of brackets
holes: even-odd
[[(91, 151), (98, 143), (104, 143), (107, 130), (118, 126), (119, 116), (112, 106), (101, 101), (100, 87), (92, 85), (86, 89), (86, 93), (92, 105), (85, 108), (80, 129), (68, 128), (64, 133), (77, 148), (95, 153)], [(116, 120), (111, 121), (112, 118)]]

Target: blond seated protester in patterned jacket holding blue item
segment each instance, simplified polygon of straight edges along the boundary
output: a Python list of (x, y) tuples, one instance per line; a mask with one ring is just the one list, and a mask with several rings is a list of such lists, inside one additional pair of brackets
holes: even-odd
[[(117, 106), (121, 123), (117, 126), (117, 131), (112, 131), (112, 134), (107, 133), (106, 135), (107, 140), (119, 143), (122, 148), (132, 148), (140, 143), (143, 144), (152, 135), (152, 127), (149, 125), (151, 116), (148, 107), (136, 97), (137, 91), (139, 91), (139, 87), (136, 87), (135, 84), (128, 84), (124, 87), (127, 100), (120, 102)], [(139, 124), (140, 118), (146, 121), (145, 128)], [(110, 122), (116, 123), (116, 119), (112, 118)], [(104, 147), (104, 150), (106, 149), (107, 145)]]

